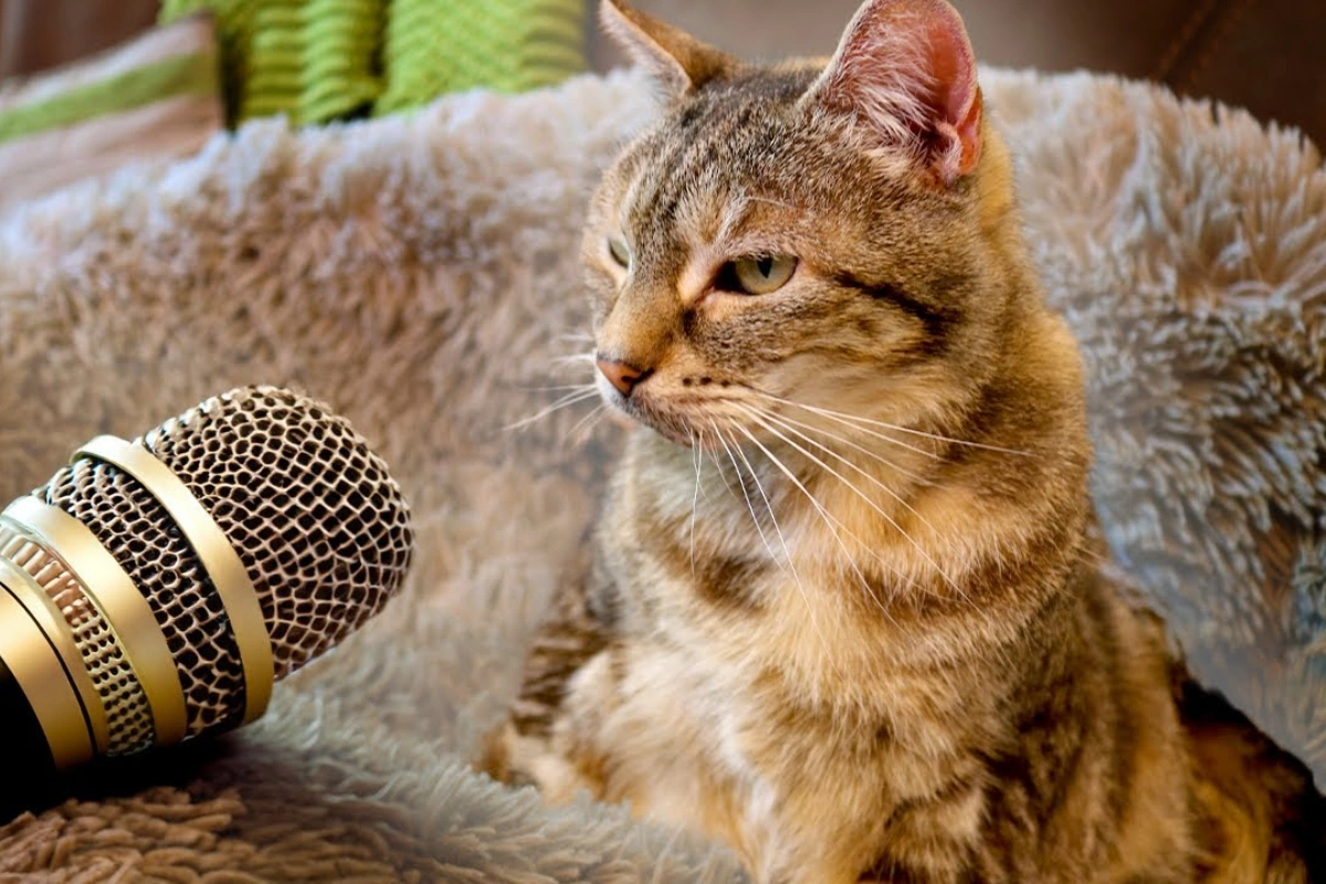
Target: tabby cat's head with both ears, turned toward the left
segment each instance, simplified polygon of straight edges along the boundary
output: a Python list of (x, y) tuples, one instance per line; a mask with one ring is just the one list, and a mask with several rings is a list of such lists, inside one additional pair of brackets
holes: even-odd
[(910, 424), (960, 408), (1024, 261), (952, 7), (867, 0), (833, 58), (772, 68), (621, 0), (602, 15), (666, 93), (583, 240), (603, 398), (683, 443), (762, 435), (752, 412), (786, 400)]

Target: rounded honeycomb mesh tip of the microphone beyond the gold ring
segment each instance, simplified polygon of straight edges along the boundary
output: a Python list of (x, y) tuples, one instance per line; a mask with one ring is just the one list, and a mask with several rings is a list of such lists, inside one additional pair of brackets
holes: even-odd
[(233, 390), (146, 433), (257, 591), (281, 679), (378, 612), (410, 567), (410, 512), (347, 420), (278, 387)]

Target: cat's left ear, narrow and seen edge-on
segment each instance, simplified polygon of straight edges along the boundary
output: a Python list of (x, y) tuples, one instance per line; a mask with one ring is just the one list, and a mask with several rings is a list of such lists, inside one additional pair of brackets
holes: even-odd
[(740, 62), (666, 21), (635, 9), (626, 0), (602, 0), (603, 29), (678, 98), (733, 73)]

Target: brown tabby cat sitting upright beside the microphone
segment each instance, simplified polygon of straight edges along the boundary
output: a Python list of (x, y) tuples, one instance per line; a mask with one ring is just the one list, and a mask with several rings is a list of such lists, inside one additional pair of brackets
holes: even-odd
[(582, 245), (638, 428), (483, 767), (766, 883), (1307, 880), (1307, 775), (1097, 567), (1082, 363), (956, 11), (867, 0), (773, 66), (602, 19), (666, 102)]

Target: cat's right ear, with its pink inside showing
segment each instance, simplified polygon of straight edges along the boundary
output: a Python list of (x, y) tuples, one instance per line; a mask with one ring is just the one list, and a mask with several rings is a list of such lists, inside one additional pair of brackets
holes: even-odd
[(914, 148), (945, 184), (981, 155), (981, 90), (963, 20), (944, 0), (866, 0), (805, 101)]

